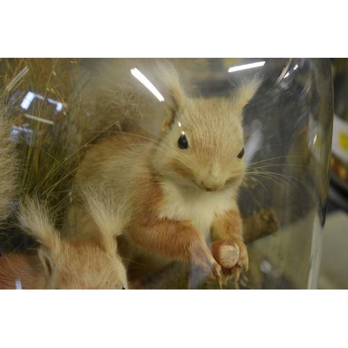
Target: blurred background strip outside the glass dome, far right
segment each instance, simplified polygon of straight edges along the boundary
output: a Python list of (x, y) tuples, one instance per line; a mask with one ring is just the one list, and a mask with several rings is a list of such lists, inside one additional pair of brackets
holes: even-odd
[(348, 289), (348, 58), (331, 58), (333, 145), (319, 289)]

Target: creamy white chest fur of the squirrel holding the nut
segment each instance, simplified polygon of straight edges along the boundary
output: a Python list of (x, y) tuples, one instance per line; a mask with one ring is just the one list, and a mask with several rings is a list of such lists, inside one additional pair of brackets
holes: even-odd
[(216, 215), (235, 209), (231, 189), (203, 191), (179, 187), (173, 182), (164, 182), (164, 204), (159, 210), (159, 218), (190, 220), (207, 239)]

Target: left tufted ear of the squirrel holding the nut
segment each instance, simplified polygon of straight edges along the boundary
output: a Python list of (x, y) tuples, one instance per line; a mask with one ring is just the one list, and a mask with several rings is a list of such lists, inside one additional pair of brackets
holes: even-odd
[(168, 104), (166, 120), (164, 120), (161, 127), (162, 132), (166, 132), (173, 125), (177, 113), (182, 109), (186, 96), (180, 83), (179, 74), (177, 74), (173, 63), (170, 61), (155, 61), (155, 73), (168, 88), (168, 92), (171, 95), (170, 100), (166, 100)]

